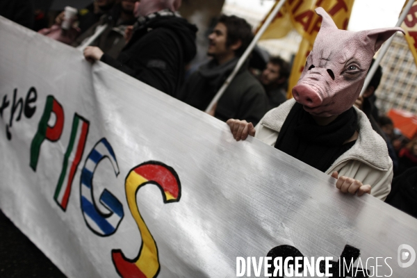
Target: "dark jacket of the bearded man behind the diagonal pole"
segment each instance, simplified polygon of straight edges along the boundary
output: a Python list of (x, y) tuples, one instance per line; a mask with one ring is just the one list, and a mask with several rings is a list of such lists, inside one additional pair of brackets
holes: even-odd
[[(201, 111), (206, 110), (237, 61), (238, 58), (235, 58), (218, 66), (211, 60), (202, 65), (188, 77), (179, 99)], [(267, 111), (268, 97), (265, 90), (247, 70), (247, 65), (243, 65), (220, 97), (214, 116), (223, 122), (234, 118), (256, 125)]]

